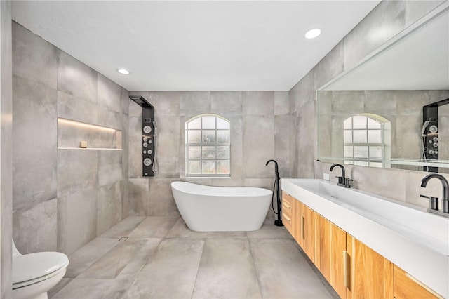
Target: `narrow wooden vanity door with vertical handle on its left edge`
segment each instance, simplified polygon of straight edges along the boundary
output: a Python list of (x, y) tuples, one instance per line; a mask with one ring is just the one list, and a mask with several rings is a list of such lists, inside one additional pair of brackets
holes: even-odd
[[(320, 232), (319, 214), (312, 211), (308, 206), (301, 204), (301, 238), (302, 250), (309, 256), (310, 260), (320, 267)], [(301, 244), (300, 244), (301, 245)]]

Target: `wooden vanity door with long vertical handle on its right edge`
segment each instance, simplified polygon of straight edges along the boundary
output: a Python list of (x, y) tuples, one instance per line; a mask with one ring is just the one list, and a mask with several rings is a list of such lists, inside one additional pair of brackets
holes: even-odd
[(346, 253), (346, 232), (320, 216), (320, 271), (340, 298), (346, 298), (346, 285), (349, 281)]

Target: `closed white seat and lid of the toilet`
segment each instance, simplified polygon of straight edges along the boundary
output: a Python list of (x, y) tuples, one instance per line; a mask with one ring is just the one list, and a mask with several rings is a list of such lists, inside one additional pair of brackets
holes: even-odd
[(39, 252), (13, 258), (13, 289), (49, 279), (65, 271), (69, 259), (64, 253)]

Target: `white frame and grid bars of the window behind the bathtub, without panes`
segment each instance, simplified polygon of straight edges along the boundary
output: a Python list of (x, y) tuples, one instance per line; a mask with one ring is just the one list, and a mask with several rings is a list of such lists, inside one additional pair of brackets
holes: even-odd
[[(215, 128), (203, 128), (203, 117), (215, 117)], [(189, 124), (196, 120), (200, 119), (201, 124), (200, 128), (189, 128)], [(229, 124), (228, 129), (220, 129), (217, 128), (217, 119), (222, 119)], [(192, 142), (189, 143), (189, 131), (200, 131), (200, 142)], [(215, 142), (203, 142), (203, 131), (214, 131), (215, 132)], [(228, 131), (229, 132), (229, 141), (226, 143), (217, 142), (217, 132), (218, 131)], [(219, 114), (198, 114), (185, 122), (185, 177), (186, 178), (230, 178), (232, 174), (231, 167), (231, 121), (229, 119), (222, 117)], [(189, 148), (190, 147), (200, 147), (199, 159), (189, 159)], [(203, 159), (203, 147), (215, 147), (215, 158), (214, 159)], [(217, 159), (217, 147), (228, 147), (229, 150), (229, 158), (228, 159)], [(200, 173), (189, 173), (189, 161), (199, 161), (200, 164)], [(214, 161), (215, 163), (215, 173), (203, 173), (203, 161)], [(229, 161), (229, 173), (217, 173), (217, 161)]]

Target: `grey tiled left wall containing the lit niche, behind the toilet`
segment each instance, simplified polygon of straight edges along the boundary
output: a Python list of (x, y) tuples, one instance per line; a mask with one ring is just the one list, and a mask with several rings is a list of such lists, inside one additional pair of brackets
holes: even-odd
[[(13, 237), (22, 253), (70, 254), (128, 215), (128, 91), (16, 22), (12, 32)], [(58, 117), (121, 131), (121, 149), (115, 133), (58, 129)]]

